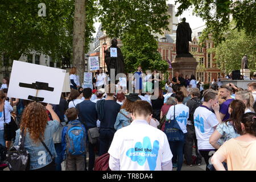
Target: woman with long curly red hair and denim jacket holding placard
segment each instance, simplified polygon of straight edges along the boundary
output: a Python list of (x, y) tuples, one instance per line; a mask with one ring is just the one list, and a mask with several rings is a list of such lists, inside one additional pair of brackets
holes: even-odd
[[(53, 121), (48, 121), (47, 110)], [(44, 107), (39, 102), (32, 102), (24, 109), (14, 146), (19, 145), (20, 137), (25, 137), (24, 148), (30, 154), (30, 170), (55, 171), (56, 151), (52, 136), (59, 129), (59, 123), (52, 105)]]

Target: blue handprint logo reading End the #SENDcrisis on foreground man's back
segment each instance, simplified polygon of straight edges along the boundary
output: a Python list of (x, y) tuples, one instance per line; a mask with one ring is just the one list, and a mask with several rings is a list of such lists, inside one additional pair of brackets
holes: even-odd
[(143, 144), (141, 142), (135, 143), (134, 148), (127, 150), (126, 155), (131, 158), (133, 162), (137, 162), (140, 166), (148, 162), (148, 166), (151, 171), (155, 170), (156, 160), (158, 158), (159, 142), (155, 140), (153, 148), (149, 137), (143, 138)]

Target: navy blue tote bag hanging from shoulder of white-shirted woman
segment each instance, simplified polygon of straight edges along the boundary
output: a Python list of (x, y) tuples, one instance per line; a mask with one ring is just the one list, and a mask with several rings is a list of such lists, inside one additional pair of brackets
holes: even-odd
[(166, 122), (164, 133), (166, 134), (169, 142), (185, 141), (185, 135), (183, 131), (181, 131), (180, 126), (177, 123), (175, 118), (175, 106), (174, 106), (174, 119), (172, 119), (171, 122)]

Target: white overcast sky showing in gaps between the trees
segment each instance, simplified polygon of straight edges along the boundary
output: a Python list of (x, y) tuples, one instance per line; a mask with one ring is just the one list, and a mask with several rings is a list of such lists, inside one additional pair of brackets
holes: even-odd
[[(168, 0), (167, 3), (175, 5), (175, 0)], [(177, 12), (177, 7), (178, 6), (179, 6), (179, 4), (177, 3), (177, 5), (175, 6), (175, 12)], [(201, 19), (200, 17), (192, 15), (192, 9), (188, 9), (187, 11), (184, 11), (184, 13), (181, 16), (178, 16), (177, 18), (179, 20), (179, 19), (184, 18), (184, 17), (186, 18), (186, 22), (189, 23), (189, 26), (191, 27), (191, 29), (203, 26), (205, 24), (203, 19)], [(99, 22), (94, 23), (96, 33), (93, 34), (93, 37), (96, 36), (99, 26), (100, 26)]]

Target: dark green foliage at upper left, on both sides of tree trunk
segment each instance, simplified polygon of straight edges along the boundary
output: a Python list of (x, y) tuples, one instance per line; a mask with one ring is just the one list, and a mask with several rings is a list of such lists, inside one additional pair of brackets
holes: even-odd
[[(0, 3), (0, 53), (10, 60), (30, 53), (32, 50), (49, 55), (60, 61), (72, 55), (73, 17), (75, 0), (44, 1), (46, 16), (38, 16), (42, 1), (12, 0)], [(87, 3), (85, 27), (85, 52), (94, 32), (93, 18), (97, 11), (94, 0)], [(11, 65), (11, 61), (9, 63)]]

